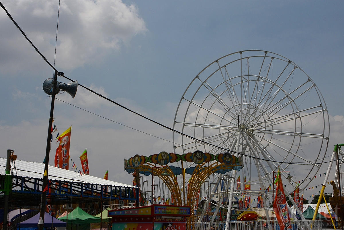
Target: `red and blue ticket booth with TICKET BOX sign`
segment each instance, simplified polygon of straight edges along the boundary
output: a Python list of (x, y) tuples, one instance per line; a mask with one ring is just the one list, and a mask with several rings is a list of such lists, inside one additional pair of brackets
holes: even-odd
[(185, 230), (190, 207), (151, 205), (108, 211), (112, 230)]

